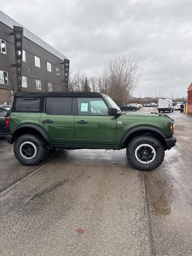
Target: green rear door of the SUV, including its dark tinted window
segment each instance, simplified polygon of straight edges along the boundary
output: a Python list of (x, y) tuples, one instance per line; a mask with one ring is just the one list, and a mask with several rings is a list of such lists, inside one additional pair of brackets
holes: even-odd
[(40, 126), (47, 132), (53, 144), (73, 144), (72, 98), (47, 97), (45, 113), (40, 116)]

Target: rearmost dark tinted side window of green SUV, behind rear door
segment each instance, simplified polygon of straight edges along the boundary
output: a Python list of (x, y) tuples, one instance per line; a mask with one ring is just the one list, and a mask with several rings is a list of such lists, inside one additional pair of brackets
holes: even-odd
[(40, 111), (40, 98), (17, 98), (16, 111)]

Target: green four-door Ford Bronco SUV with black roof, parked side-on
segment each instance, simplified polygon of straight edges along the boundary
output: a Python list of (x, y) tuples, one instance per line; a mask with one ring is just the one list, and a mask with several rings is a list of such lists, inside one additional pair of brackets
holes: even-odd
[(174, 120), (164, 114), (125, 113), (97, 92), (18, 92), (6, 117), (14, 154), (36, 165), (50, 149), (126, 148), (138, 170), (154, 170), (175, 146)]

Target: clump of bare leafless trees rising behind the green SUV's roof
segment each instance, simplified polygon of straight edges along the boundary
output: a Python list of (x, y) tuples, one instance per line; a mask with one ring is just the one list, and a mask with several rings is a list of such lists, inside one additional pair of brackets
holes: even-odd
[(140, 78), (138, 63), (125, 57), (116, 58), (104, 66), (101, 76), (88, 77), (84, 72), (69, 74), (69, 90), (82, 92), (88, 78), (92, 92), (108, 94), (117, 104), (126, 103), (137, 88)]

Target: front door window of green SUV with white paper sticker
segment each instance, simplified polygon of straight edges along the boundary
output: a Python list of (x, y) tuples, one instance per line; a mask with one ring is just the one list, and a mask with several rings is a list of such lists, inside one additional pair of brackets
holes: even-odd
[(78, 98), (78, 114), (80, 116), (106, 116), (108, 106), (102, 98)]

